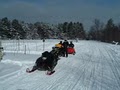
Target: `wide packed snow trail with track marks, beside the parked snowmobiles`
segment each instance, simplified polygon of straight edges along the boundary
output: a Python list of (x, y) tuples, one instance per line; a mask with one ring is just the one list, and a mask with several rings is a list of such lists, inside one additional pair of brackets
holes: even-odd
[(7, 78), (0, 77), (0, 90), (120, 90), (119, 46), (81, 41), (75, 48), (76, 55), (61, 57), (53, 75), (28, 74), (24, 64)]

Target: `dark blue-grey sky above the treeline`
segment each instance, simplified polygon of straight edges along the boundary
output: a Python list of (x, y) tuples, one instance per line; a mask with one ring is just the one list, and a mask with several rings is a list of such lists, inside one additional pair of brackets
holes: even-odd
[(94, 19), (120, 21), (120, 0), (0, 0), (0, 18), (25, 22), (81, 22), (88, 29)]

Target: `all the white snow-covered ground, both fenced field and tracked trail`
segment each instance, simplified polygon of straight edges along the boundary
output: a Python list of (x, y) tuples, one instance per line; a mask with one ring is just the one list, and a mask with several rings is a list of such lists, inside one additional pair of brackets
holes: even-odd
[(43, 51), (59, 41), (2, 41), (0, 90), (120, 90), (120, 45), (73, 41), (76, 54), (60, 57), (53, 75), (26, 73)]

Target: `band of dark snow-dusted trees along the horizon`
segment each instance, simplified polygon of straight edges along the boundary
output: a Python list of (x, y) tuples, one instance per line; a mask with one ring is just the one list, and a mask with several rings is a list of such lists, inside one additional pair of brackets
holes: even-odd
[(84, 29), (82, 22), (63, 22), (51, 25), (44, 22), (25, 23), (17, 19), (0, 19), (1, 39), (87, 39), (103, 42), (120, 42), (120, 24), (114, 24), (113, 19), (107, 23), (95, 19), (89, 31)]

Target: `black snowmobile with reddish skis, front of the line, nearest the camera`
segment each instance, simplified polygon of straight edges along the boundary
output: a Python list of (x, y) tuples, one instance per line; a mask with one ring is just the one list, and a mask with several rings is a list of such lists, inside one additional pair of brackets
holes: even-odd
[(31, 73), (35, 70), (47, 70), (52, 72), (54, 71), (53, 69), (57, 64), (56, 59), (57, 58), (55, 58), (51, 52), (45, 51), (42, 53), (42, 56), (36, 60), (32, 70), (28, 70), (27, 72)]

